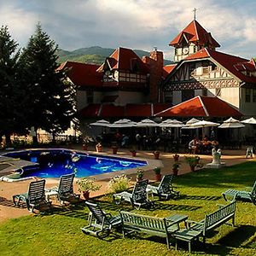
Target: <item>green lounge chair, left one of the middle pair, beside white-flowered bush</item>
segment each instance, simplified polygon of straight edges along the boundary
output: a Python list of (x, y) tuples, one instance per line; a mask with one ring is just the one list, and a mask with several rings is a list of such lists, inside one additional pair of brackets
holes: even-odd
[(141, 207), (153, 207), (154, 202), (148, 200), (147, 196), (147, 185), (148, 179), (144, 179), (142, 181), (137, 181), (135, 184), (132, 193), (123, 191), (118, 194), (113, 195), (113, 201), (119, 204), (121, 201), (128, 201), (131, 203), (132, 207), (140, 209)]

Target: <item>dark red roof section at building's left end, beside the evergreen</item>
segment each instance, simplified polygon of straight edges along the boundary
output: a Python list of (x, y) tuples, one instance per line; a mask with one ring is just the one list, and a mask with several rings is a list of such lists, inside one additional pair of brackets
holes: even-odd
[(73, 84), (79, 86), (102, 86), (102, 73), (97, 73), (96, 70), (100, 67), (95, 64), (86, 64), (74, 61), (66, 61), (61, 63), (58, 70), (65, 67), (70, 67), (67, 76)]

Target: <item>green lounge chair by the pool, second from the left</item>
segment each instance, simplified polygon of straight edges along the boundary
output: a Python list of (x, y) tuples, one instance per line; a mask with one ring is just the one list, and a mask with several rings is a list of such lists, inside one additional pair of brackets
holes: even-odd
[(74, 173), (62, 175), (60, 178), (60, 183), (58, 186), (55, 186), (50, 189), (45, 189), (47, 195), (47, 201), (51, 195), (55, 195), (57, 200), (60, 201), (70, 201), (70, 199), (78, 199), (80, 195), (77, 195), (73, 192), (73, 178)]

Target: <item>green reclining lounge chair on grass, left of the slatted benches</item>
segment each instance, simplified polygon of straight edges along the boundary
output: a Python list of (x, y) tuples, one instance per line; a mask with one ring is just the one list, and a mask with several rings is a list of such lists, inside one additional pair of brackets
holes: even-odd
[(99, 238), (108, 236), (112, 228), (118, 228), (121, 225), (119, 215), (112, 216), (110, 213), (105, 213), (102, 208), (96, 203), (85, 201), (90, 213), (88, 216), (89, 224), (81, 228), (84, 233), (90, 233)]

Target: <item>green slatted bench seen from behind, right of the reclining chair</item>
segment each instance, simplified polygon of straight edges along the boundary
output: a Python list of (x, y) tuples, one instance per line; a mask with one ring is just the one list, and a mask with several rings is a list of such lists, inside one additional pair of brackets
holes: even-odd
[(132, 232), (142, 232), (153, 236), (166, 237), (168, 248), (170, 248), (172, 233), (179, 230), (179, 223), (188, 218), (188, 216), (180, 214), (174, 214), (168, 218), (155, 218), (124, 211), (120, 212), (120, 217), (124, 237), (126, 234)]

